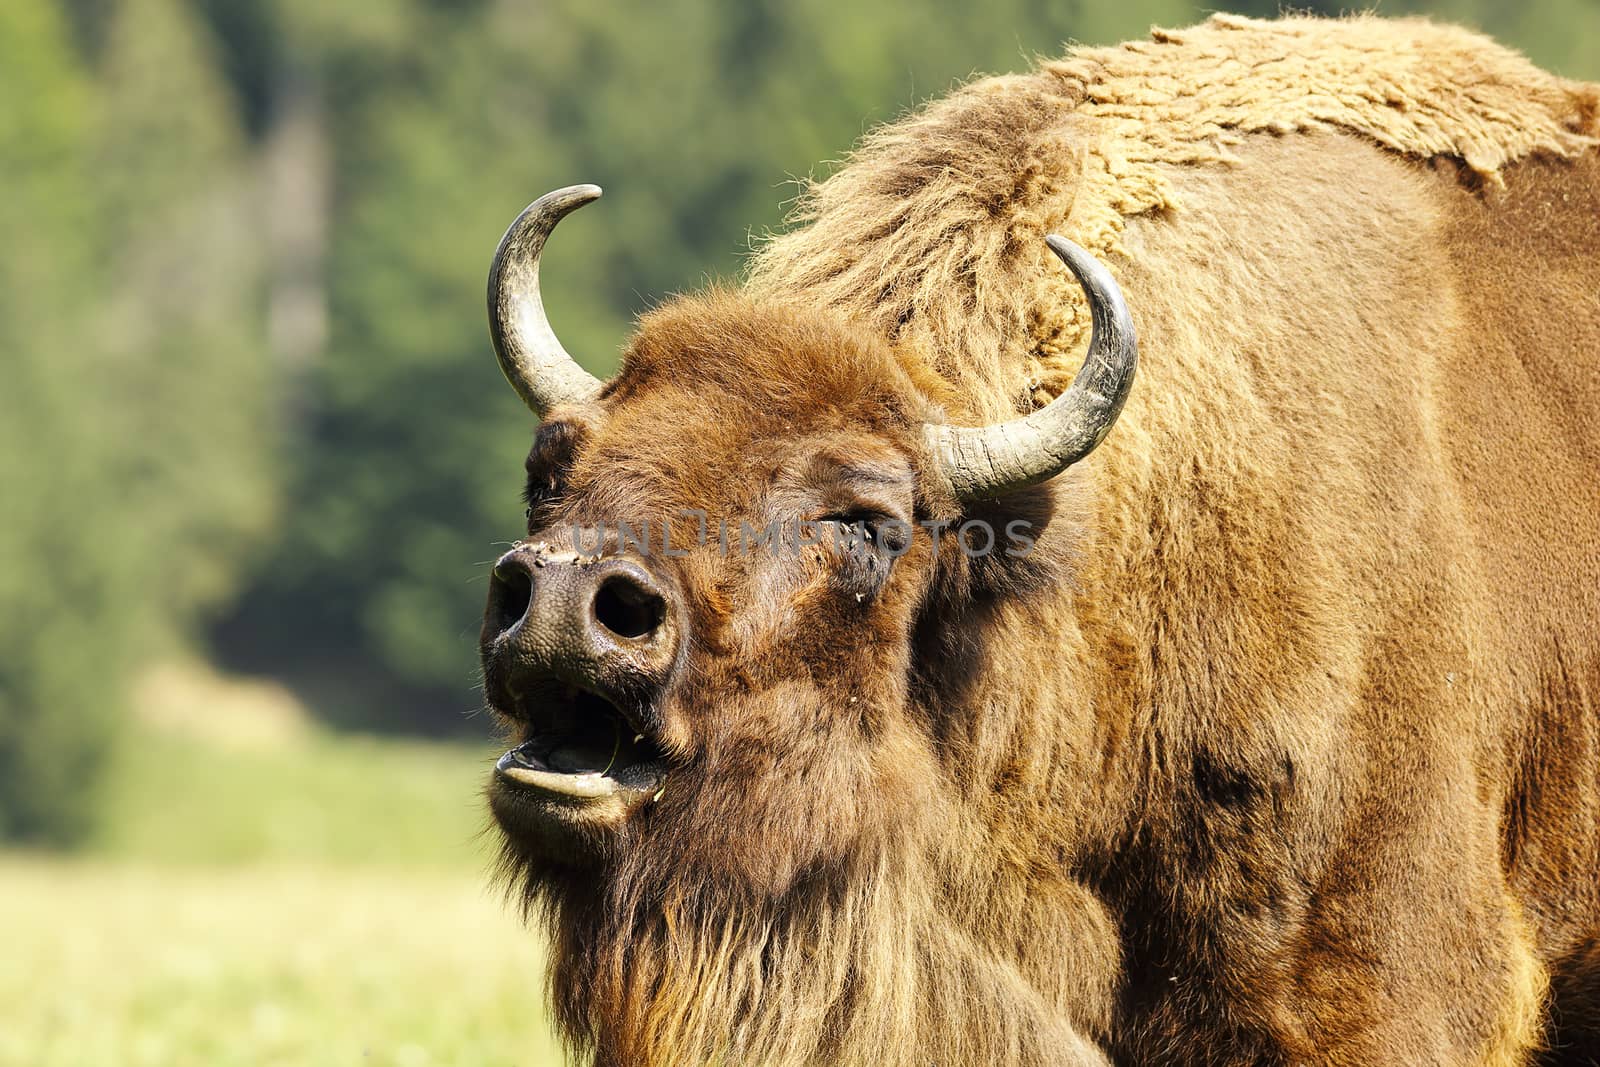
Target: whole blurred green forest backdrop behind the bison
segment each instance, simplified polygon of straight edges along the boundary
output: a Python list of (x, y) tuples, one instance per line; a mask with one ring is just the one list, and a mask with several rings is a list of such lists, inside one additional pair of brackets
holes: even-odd
[[(1600, 77), (1600, 0), (1384, 8), (1418, 10)], [(174, 645), (336, 723), (482, 729), (483, 565), (520, 530), (531, 429), (482, 286), (534, 195), (608, 189), (546, 275), (606, 373), (634, 314), (736, 275), (790, 179), (872, 123), (1203, 13), (6, 0), (0, 837), (90, 829), (128, 670)]]

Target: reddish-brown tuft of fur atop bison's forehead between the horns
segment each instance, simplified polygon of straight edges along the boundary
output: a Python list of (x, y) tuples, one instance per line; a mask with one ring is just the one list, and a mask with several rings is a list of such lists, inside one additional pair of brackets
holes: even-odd
[(714, 290), (643, 315), (606, 389), (613, 410), (688, 402), (710, 416), (886, 432), (939, 418), (950, 387), (829, 312)]

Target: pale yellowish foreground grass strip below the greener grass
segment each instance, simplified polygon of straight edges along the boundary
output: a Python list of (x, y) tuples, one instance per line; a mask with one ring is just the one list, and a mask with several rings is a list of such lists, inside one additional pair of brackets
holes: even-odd
[(478, 880), (0, 859), (0, 1064), (560, 1064)]

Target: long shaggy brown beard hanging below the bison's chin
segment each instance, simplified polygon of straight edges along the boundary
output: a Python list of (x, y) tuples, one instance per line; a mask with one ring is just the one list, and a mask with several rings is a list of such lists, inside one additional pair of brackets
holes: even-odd
[(598, 880), (510, 862), (549, 931), (557, 1022), (597, 1067), (1107, 1062), (954, 920), (915, 835), (776, 896), (682, 856)]

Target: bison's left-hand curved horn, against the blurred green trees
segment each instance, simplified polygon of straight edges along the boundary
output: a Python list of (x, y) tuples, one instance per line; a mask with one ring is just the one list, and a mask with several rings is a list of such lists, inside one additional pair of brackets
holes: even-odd
[(506, 381), (542, 416), (562, 403), (582, 403), (600, 392), (600, 379), (578, 366), (544, 317), (539, 253), (568, 213), (600, 197), (598, 186), (568, 186), (530, 203), (506, 230), (490, 267), (490, 338)]

